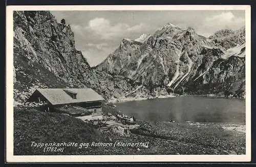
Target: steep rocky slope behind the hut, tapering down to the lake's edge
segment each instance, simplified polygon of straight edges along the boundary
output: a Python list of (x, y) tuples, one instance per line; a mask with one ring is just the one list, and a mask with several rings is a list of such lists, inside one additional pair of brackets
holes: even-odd
[(129, 78), (92, 69), (75, 48), (71, 27), (49, 11), (15, 11), (13, 19), (15, 102), (36, 88), (89, 87), (106, 99), (147, 95)]

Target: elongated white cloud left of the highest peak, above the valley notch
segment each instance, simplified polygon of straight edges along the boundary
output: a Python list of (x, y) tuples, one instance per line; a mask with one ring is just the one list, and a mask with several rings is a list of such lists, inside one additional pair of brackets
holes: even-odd
[(89, 33), (98, 35), (101, 39), (111, 39), (115, 37), (123, 37), (130, 33), (139, 32), (145, 27), (144, 24), (130, 26), (126, 23), (111, 24), (110, 20), (105, 18), (94, 18), (89, 21), (86, 29)]

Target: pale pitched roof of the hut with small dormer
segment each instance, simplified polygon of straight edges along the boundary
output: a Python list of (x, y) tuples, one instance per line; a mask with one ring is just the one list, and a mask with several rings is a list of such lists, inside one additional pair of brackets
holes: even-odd
[[(51, 104), (69, 104), (90, 101), (103, 101), (104, 98), (90, 88), (84, 89), (37, 89)], [(76, 99), (73, 99), (67, 92), (76, 94)]]

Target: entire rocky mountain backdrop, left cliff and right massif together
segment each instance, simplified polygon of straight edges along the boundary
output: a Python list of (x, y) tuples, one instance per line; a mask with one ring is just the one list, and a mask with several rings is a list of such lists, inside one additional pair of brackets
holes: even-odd
[(244, 90), (244, 28), (205, 38), (166, 24), (152, 36), (123, 39), (91, 68), (75, 48), (71, 27), (49, 11), (15, 11), (13, 18), (15, 102), (36, 88), (88, 87), (106, 99)]

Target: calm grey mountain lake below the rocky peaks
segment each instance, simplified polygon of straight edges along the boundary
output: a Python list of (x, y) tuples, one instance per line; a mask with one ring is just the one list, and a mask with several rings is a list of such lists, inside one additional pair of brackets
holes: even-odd
[(245, 99), (183, 96), (115, 105), (123, 114), (145, 121), (245, 122)]

